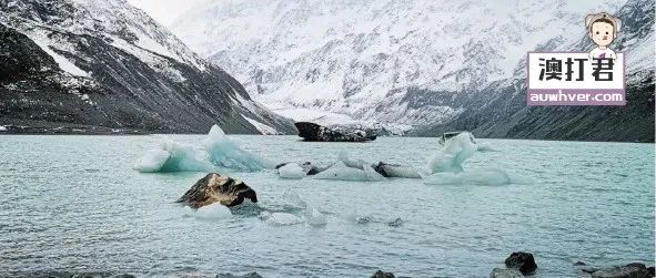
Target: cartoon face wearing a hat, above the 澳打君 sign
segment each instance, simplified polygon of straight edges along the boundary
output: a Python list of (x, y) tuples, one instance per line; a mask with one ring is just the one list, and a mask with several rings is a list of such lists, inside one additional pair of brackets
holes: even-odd
[(588, 14), (585, 18), (585, 27), (588, 30), (588, 37), (595, 44), (602, 48), (610, 45), (617, 38), (622, 20), (606, 13)]

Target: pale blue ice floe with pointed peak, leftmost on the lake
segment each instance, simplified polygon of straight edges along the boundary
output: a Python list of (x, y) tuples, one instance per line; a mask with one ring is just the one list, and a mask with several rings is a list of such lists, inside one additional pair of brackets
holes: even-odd
[(141, 156), (134, 164), (134, 169), (142, 173), (218, 169), (255, 172), (273, 166), (268, 159), (241, 150), (221, 127), (214, 125), (205, 140), (196, 145), (164, 140)]

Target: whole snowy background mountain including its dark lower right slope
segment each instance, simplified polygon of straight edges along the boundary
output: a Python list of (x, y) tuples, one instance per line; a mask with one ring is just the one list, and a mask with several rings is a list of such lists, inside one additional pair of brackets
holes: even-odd
[[(525, 103), (527, 51), (587, 51), (585, 16), (632, 7), (652, 21), (636, 20), (647, 32), (620, 49), (629, 71), (653, 72), (653, 48), (634, 50), (647, 49), (654, 33), (649, 1), (209, 0), (171, 28), (252, 97), (297, 120), (412, 125), (415, 135), (467, 128), (494, 137), (649, 141), (648, 123), (627, 124), (642, 121), (636, 116), (601, 119), (599, 111), (645, 113), (649, 97), (642, 94), (629, 94), (626, 107), (581, 109), (589, 115), (576, 124), (555, 121), (577, 107)], [(632, 59), (632, 51), (648, 60)], [(632, 74), (639, 78), (630, 87), (653, 86), (648, 73)], [(653, 115), (652, 109), (643, 119)], [(608, 121), (624, 127), (609, 134), (596, 124)]]

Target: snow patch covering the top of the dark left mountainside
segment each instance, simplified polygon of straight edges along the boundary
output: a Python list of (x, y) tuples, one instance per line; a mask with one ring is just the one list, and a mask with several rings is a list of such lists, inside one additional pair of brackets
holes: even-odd
[[(36, 14), (34, 6), (58, 6), (62, 14)], [(0, 3), (0, 7), (2, 3)], [(27, 20), (51, 31), (103, 38), (153, 68), (162, 70), (165, 59), (205, 70), (205, 62), (165, 28), (124, 0), (65, 0), (50, 3), (10, 1), (2, 7), (4, 20)], [(20, 24), (20, 23), (19, 23)], [(23, 24), (24, 25), (24, 24)], [(30, 34), (33, 29), (23, 30)], [(43, 41), (50, 48), (65, 48)]]

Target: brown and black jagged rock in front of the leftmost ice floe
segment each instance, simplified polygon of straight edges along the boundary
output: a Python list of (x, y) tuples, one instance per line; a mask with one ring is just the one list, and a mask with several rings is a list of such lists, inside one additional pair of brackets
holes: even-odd
[(219, 202), (232, 207), (242, 204), (244, 199), (258, 203), (255, 191), (241, 181), (210, 173), (199, 179), (176, 203), (199, 208)]

